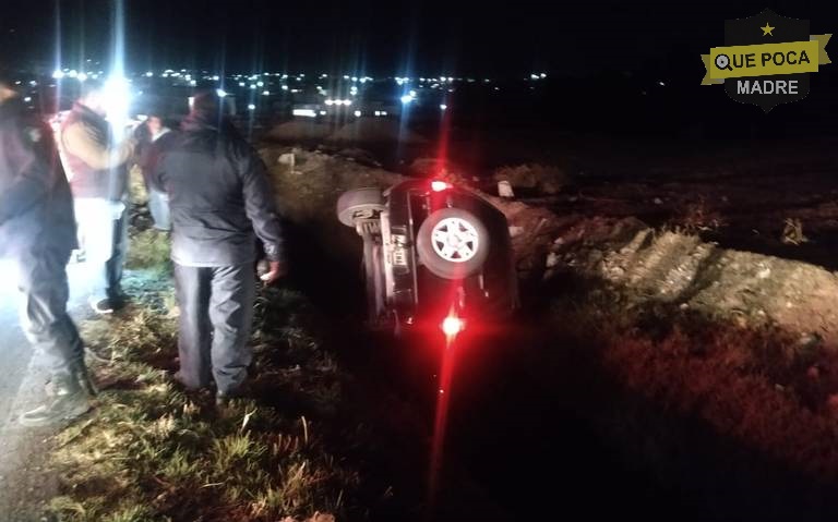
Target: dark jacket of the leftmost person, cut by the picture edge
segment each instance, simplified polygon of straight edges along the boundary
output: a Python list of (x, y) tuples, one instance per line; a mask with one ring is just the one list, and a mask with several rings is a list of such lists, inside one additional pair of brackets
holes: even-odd
[(49, 126), (19, 98), (0, 104), (0, 255), (70, 253), (73, 199)]

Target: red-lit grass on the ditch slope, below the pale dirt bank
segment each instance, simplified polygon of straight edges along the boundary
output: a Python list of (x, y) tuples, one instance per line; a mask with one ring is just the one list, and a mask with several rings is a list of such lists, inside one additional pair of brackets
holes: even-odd
[[(601, 288), (553, 306), (562, 335), (590, 352), (622, 389), (620, 400), (639, 398), (662, 416), (691, 418), (719, 440), (838, 484), (838, 354), (817, 339), (677, 305), (638, 305)], [(663, 424), (623, 421), (643, 437)]]

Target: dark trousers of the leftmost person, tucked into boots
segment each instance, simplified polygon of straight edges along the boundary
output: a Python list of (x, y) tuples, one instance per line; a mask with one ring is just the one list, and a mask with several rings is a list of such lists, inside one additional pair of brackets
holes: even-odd
[(67, 375), (84, 365), (84, 344), (67, 313), (70, 252), (49, 248), (17, 256), (21, 326), (52, 375)]

